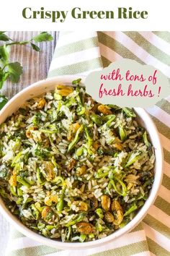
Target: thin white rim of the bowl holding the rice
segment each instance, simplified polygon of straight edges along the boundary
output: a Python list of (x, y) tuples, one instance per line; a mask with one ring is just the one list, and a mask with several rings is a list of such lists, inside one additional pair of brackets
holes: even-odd
[[(80, 77), (82, 77), (82, 81), (84, 82), (86, 77), (84, 77), (84, 76), (80, 76)], [(53, 83), (63, 81), (63, 83), (66, 84), (66, 83), (71, 83), (71, 81), (75, 80), (76, 78), (77, 78), (77, 76), (75, 76), (75, 75), (71, 75), (71, 76), (66, 75), (66, 76), (47, 78), (45, 80), (40, 80), (38, 82), (32, 83), (32, 85), (21, 90), (19, 93), (14, 95), (14, 97), (12, 97), (8, 103), (6, 103), (6, 106), (4, 106), (4, 108), (2, 108), (2, 110), (0, 111), (0, 123), (3, 122), (3, 120), (1, 121), (1, 115), (3, 115), (4, 112), (8, 111), (8, 108), (10, 108), (12, 106), (12, 104), (14, 104), (17, 101), (17, 99), (19, 97), (21, 97), (22, 95), (31, 92), (32, 90), (34, 90), (35, 88), (38, 88), (39, 86), (48, 85), (48, 83), (53, 84)], [(47, 91), (50, 91), (50, 90), (47, 90)], [(139, 212), (133, 218), (132, 221), (130, 221), (122, 229), (118, 229), (114, 233), (112, 233), (109, 236), (106, 236), (102, 239), (97, 239), (97, 240), (94, 240), (91, 242), (84, 242), (84, 243), (60, 242), (60, 241), (46, 238), (45, 236), (37, 234), (34, 231), (32, 231), (31, 229), (28, 229), (26, 226), (24, 226), (24, 224), (22, 224), (19, 221), (19, 219), (17, 219), (17, 217), (12, 215), (12, 213), (6, 208), (4, 201), (0, 198), (0, 211), (4, 215), (6, 220), (9, 221), (12, 224), (12, 226), (14, 226), (15, 229), (20, 231), (25, 236), (28, 236), (30, 239), (34, 239), (37, 242), (40, 242), (42, 244), (48, 245), (50, 247), (55, 247), (58, 249), (89, 249), (92, 247), (99, 247), (104, 244), (107, 244), (108, 242), (111, 242), (112, 240), (117, 239), (118, 237), (122, 236), (123, 234), (126, 234), (126, 233), (130, 232), (132, 229), (134, 229), (135, 226), (137, 226), (138, 223), (140, 223), (140, 221), (146, 216), (149, 208), (151, 207), (151, 205), (153, 205), (153, 202), (156, 200), (156, 196), (158, 194), (158, 189), (161, 186), (161, 181), (162, 181), (162, 176), (163, 176), (163, 157), (164, 157), (163, 149), (162, 149), (162, 145), (160, 142), (160, 138), (158, 136), (158, 130), (156, 128), (156, 125), (153, 123), (151, 117), (148, 115), (146, 110), (144, 110), (143, 108), (134, 108), (134, 109), (135, 109), (135, 111), (137, 111), (137, 113), (140, 113), (140, 116), (144, 116), (146, 121), (150, 123), (151, 131), (154, 132), (155, 136), (156, 136), (156, 137), (154, 137), (154, 139), (156, 140), (158, 153), (160, 153), (160, 155), (159, 155), (158, 161), (156, 162), (156, 170), (158, 169), (157, 172), (158, 171), (159, 172), (158, 172), (158, 174), (155, 175), (155, 179), (153, 182), (153, 187), (151, 189), (150, 195), (149, 195), (148, 199), (146, 200), (145, 204), (143, 205), (143, 207), (139, 210)], [(6, 116), (6, 118), (7, 118), (7, 116)]]

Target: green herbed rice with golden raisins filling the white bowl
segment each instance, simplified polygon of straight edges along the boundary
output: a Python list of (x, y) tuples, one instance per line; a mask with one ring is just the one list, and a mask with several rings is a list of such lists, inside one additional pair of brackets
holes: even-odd
[(0, 126), (0, 195), (33, 231), (63, 242), (112, 234), (153, 184), (154, 150), (130, 108), (75, 88), (32, 98)]

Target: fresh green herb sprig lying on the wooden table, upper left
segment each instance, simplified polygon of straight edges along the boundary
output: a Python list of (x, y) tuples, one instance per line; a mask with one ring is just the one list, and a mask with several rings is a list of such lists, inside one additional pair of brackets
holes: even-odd
[[(6, 80), (10, 80), (13, 83), (19, 81), (19, 77), (23, 72), (22, 65), (18, 62), (10, 62), (10, 48), (14, 45), (23, 46), (30, 44), (33, 50), (40, 51), (40, 47), (35, 43), (41, 43), (53, 40), (53, 36), (47, 32), (42, 32), (30, 40), (15, 41), (6, 35), (5, 31), (0, 31), (0, 42), (4, 42), (0, 46), (0, 89), (3, 87)], [(0, 109), (7, 103), (5, 95), (0, 93)]]

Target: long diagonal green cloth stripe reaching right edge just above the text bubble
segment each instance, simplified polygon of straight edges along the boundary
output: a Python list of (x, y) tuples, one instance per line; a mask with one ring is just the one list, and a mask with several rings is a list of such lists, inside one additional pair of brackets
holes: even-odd
[(137, 32), (124, 32), (125, 35), (128, 35), (129, 38), (131, 38), (135, 43), (138, 44), (138, 46), (145, 49), (148, 54), (151, 54), (153, 57), (158, 59), (159, 61), (163, 62), (166, 65), (170, 65), (170, 58), (169, 55), (165, 54), (164, 51), (161, 51), (156, 46), (153, 46), (152, 43), (150, 43), (146, 38), (143, 38), (140, 33)]

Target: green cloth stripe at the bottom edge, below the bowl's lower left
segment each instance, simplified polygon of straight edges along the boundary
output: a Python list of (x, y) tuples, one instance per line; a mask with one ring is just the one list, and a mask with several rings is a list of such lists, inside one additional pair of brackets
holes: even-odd
[(45, 245), (38, 245), (36, 247), (24, 247), (23, 249), (16, 249), (13, 252), (9, 252), (8, 256), (42, 256), (55, 252), (61, 252), (61, 249), (55, 249)]

